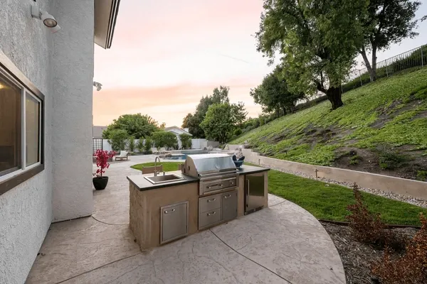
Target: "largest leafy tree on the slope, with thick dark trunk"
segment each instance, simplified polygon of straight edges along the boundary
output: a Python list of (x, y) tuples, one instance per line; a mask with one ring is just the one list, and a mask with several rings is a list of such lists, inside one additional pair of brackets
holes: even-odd
[(343, 105), (340, 85), (360, 45), (362, 27), (355, 13), (365, 0), (264, 0), (257, 50), (274, 62), (283, 57), (283, 77), (295, 94), (324, 92), (332, 109)]

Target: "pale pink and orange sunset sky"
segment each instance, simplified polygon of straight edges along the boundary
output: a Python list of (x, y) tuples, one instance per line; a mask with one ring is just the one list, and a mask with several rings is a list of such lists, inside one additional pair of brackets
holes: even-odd
[[(417, 17), (427, 14), (423, 1)], [(112, 48), (95, 45), (93, 124), (121, 114), (148, 114), (181, 126), (202, 96), (230, 87), (231, 102), (244, 102), (250, 116), (260, 107), (249, 95), (273, 67), (255, 49), (262, 0), (120, 1)], [(427, 21), (418, 32), (427, 31)], [(426, 44), (424, 36), (394, 45), (378, 60)]]

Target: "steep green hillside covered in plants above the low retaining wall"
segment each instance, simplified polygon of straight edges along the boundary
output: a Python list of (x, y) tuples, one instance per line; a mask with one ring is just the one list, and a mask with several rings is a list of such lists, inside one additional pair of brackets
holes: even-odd
[[(321, 102), (248, 131), (230, 144), (248, 141), (255, 151), (273, 158), (313, 165), (332, 165), (343, 146), (427, 148), (427, 119), (417, 116), (426, 113), (426, 98), (424, 67), (346, 92), (344, 106), (334, 111), (330, 102)], [(389, 117), (384, 126), (371, 127), (384, 116)], [(312, 129), (317, 132), (310, 135)], [(330, 129), (330, 136), (317, 136), (321, 129)]]

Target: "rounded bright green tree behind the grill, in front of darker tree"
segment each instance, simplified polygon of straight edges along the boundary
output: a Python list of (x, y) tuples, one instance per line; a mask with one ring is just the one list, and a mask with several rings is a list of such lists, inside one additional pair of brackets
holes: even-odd
[[(201, 123), (201, 128), (206, 133), (206, 137), (219, 141), (219, 143), (226, 143), (233, 135), (234, 129), (238, 125), (243, 124), (241, 114), (245, 113), (243, 104), (212, 104), (204, 121)], [(238, 114), (240, 112), (241, 114)]]

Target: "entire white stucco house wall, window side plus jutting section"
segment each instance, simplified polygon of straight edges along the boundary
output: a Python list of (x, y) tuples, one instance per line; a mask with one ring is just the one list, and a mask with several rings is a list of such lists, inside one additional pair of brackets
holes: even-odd
[[(88, 216), (92, 200), (93, 0), (5, 0), (0, 50), (45, 95), (45, 169), (0, 195), (0, 283), (24, 283), (52, 221)], [(76, 167), (75, 165), (78, 165)]]

